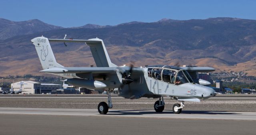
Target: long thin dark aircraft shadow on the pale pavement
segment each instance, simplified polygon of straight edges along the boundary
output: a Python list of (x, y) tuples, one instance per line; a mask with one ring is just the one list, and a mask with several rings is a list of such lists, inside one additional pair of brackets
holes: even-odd
[[(134, 112), (136, 111), (136, 112)], [(157, 113), (153, 110), (120, 110), (120, 111), (108, 111), (110, 115), (144, 115), (144, 114), (174, 114), (172, 111), (163, 111)], [(228, 111), (182, 111), (180, 114), (218, 114), (218, 115), (240, 115), (242, 113), (234, 113)]]

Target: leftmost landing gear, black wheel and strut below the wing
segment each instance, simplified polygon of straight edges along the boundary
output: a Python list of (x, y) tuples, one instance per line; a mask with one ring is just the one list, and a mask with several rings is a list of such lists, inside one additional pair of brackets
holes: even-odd
[(107, 114), (108, 113), (108, 109), (112, 108), (112, 101), (111, 101), (111, 92), (113, 91), (108, 89), (107, 94), (108, 94), (108, 104), (106, 102), (100, 102), (98, 105), (98, 111), (100, 114)]

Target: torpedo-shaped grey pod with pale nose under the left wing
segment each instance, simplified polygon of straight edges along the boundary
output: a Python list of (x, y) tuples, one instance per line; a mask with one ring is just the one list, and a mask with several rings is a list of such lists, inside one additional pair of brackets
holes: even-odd
[(91, 79), (71, 78), (67, 79), (66, 82), (77, 87), (84, 87), (89, 89), (103, 89), (107, 87), (105, 83)]

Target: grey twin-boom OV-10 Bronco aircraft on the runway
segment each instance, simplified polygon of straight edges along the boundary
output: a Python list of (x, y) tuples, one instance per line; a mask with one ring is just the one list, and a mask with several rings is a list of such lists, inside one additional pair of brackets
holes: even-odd
[[(90, 47), (97, 67), (64, 67), (56, 62), (50, 42), (82, 42)], [(211, 67), (118, 67), (113, 64), (101, 39), (67, 40), (48, 39), (37, 37), (31, 40), (36, 48), (43, 70), (40, 72), (52, 73), (68, 78), (67, 83), (89, 89), (95, 89), (108, 94), (108, 104), (100, 102), (98, 111), (106, 114), (112, 108), (110, 93), (118, 88), (120, 96), (128, 99), (141, 97), (159, 98), (154, 103), (156, 112), (164, 110), (164, 97), (172, 97), (181, 103), (174, 104), (174, 113), (180, 113), (184, 101), (199, 102), (215, 95), (214, 89), (204, 85), (208, 81), (197, 79), (197, 71), (214, 71)], [(65, 44), (66, 45), (66, 44)], [(192, 77), (190, 76), (192, 75)], [(202, 85), (200, 85), (202, 84)]]

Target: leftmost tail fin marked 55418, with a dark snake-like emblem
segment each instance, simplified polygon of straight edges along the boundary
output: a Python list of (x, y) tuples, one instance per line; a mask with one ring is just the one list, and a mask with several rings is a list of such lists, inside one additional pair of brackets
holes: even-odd
[(31, 42), (35, 45), (36, 52), (38, 54), (43, 69), (51, 67), (63, 67), (56, 62), (48, 38), (45, 38), (43, 36), (37, 37), (33, 38)]

